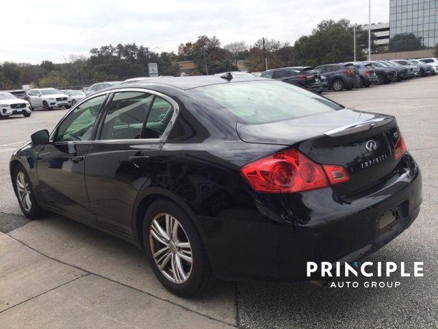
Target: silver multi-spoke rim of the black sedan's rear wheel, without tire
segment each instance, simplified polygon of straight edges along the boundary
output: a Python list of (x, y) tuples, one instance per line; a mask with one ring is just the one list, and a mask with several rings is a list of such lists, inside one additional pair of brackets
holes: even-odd
[(170, 282), (182, 284), (192, 273), (192, 246), (181, 223), (172, 215), (156, 215), (149, 227), (151, 254)]

